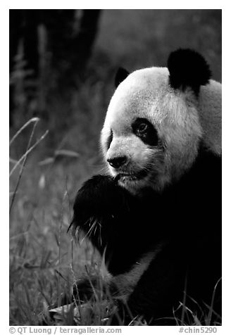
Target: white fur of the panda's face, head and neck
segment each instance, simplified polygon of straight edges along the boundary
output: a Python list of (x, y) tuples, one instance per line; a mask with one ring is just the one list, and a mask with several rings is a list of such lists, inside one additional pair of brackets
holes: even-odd
[[(108, 165), (111, 175), (122, 172), (119, 182), (130, 191), (151, 186), (161, 190), (179, 179), (194, 162), (199, 142), (221, 153), (221, 84), (211, 80), (201, 87), (199, 99), (191, 89), (174, 90), (168, 83), (167, 68), (145, 68), (132, 72), (116, 89), (108, 106), (101, 132), (104, 158), (127, 156), (123, 169)], [(132, 133), (132, 122), (146, 118), (158, 132), (165, 150), (146, 146)], [(113, 131), (113, 141), (106, 148)], [(141, 170), (146, 177), (135, 179)]]

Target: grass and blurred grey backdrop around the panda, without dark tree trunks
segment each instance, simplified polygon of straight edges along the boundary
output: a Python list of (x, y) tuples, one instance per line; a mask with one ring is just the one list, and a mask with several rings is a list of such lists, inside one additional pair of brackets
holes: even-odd
[[(11, 325), (39, 324), (42, 311), (70, 298), (70, 288), (86, 275), (86, 266), (89, 273), (99, 270), (99, 255), (89, 242), (75, 244), (67, 229), (77, 189), (85, 179), (104, 171), (99, 134), (117, 66), (133, 70), (165, 65), (170, 51), (191, 47), (208, 59), (213, 77), (221, 78), (218, 11), (107, 10), (99, 28), (87, 80), (78, 91), (58, 87), (57, 73), (48, 65), (29, 104), (23, 58), (18, 55), (10, 146)], [(89, 302), (82, 310), (81, 324), (105, 324), (104, 306), (96, 298)], [(190, 310), (181, 313), (182, 308), (184, 304), (179, 309), (181, 323), (206, 324)], [(65, 323), (72, 324), (73, 310), (67, 317)]]

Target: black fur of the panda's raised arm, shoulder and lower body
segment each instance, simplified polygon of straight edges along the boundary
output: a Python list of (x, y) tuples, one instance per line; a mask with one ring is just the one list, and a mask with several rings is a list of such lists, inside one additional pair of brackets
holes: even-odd
[[(150, 324), (172, 324), (158, 319), (173, 317), (185, 288), (187, 306), (189, 296), (202, 308), (211, 304), (221, 277), (220, 168), (220, 158), (201, 148), (192, 169), (161, 194), (146, 189), (138, 198), (101, 175), (78, 191), (73, 234), (80, 227), (101, 254), (106, 251), (111, 274), (129, 271), (144, 253), (162, 244), (127, 301), (133, 316), (144, 315)], [(221, 313), (219, 290), (213, 307)], [(120, 315), (125, 310), (120, 301), (118, 310)], [(125, 322), (130, 322), (129, 313)]]

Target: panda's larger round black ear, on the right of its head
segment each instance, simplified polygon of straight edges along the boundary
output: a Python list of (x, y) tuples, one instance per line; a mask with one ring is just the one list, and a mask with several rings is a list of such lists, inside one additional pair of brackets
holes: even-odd
[(191, 87), (196, 95), (201, 85), (208, 84), (211, 70), (203, 56), (191, 49), (178, 49), (168, 58), (169, 81), (174, 89)]

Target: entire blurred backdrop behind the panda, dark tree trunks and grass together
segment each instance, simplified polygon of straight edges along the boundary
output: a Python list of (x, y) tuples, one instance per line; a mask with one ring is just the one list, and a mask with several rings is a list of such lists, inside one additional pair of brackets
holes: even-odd
[(177, 48), (202, 53), (221, 81), (220, 10), (11, 10), (10, 169), (49, 134), (10, 177), (11, 324), (37, 324), (94, 268), (91, 246), (73, 251), (66, 229), (77, 188), (105, 171), (99, 134), (119, 66), (166, 66)]

